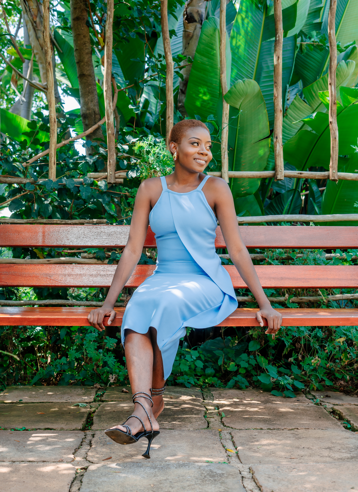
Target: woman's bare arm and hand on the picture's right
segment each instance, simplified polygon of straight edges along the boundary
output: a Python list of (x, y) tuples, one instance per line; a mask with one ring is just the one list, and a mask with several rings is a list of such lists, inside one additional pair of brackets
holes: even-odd
[(231, 261), (259, 304), (260, 311), (256, 314), (257, 320), (263, 326), (262, 317), (266, 318), (268, 330), (265, 333), (275, 334), (281, 326), (282, 315), (271, 307), (263, 292), (250, 254), (241, 238), (233, 198), (228, 184), (224, 180), (217, 179), (215, 183), (213, 180), (208, 191), (214, 199), (215, 211)]

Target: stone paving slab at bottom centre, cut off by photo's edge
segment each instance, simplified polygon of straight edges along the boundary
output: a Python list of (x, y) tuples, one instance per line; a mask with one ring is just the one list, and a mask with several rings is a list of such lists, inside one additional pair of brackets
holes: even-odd
[(238, 469), (228, 464), (218, 463), (147, 461), (92, 464), (83, 476), (81, 492), (118, 492), (119, 490), (126, 492), (245, 492)]

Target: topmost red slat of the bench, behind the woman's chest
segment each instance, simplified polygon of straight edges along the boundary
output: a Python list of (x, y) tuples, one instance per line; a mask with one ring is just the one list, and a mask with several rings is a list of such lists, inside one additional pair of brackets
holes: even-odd
[[(264, 218), (264, 217), (263, 217)], [(130, 226), (116, 225), (0, 225), (0, 246), (5, 247), (118, 247), (127, 244)], [(248, 248), (355, 248), (358, 227), (240, 226)], [(215, 247), (226, 247), (220, 227)], [(148, 228), (144, 246), (155, 247)]]

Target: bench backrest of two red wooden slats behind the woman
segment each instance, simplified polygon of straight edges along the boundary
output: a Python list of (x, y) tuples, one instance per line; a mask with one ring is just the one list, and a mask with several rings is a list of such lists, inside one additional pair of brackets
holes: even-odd
[[(0, 246), (7, 247), (120, 247), (128, 241), (130, 226), (103, 225), (1, 225)], [(356, 248), (358, 227), (241, 226), (248, 248)], [(220, 227), (215, 246), (225, 248)], [(148, 228), (146, 247), (155, 247)], [(154, 265), (138, 265), (127, 282), (137, 287), (153, 273)], [(246, 284), (233, 266), (225, 267), (235, 288)], [(0, 286), (109, 287), (116, 265), (0, 264)], [(255, 267), (262, 287), (358, 288), (358, 266)]]

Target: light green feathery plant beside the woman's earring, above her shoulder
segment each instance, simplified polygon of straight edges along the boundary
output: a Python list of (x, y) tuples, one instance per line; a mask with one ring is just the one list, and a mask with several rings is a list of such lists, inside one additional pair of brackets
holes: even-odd
[(165, 148), (165, 141), (149, 135), (138, 140), (134, 152), (140, 154), (137, 166), (130, 171), (132, 177), (142, 181), (156, 176), (166, 176), (173, 172), (174, 161), (169, 151)]

